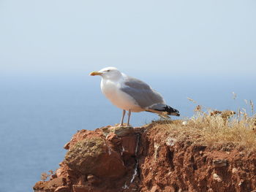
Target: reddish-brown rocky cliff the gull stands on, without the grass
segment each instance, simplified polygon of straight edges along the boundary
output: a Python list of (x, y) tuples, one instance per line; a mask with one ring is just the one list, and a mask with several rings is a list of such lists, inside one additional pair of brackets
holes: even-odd
[(256, 191), (255, 151), (178, 140), (165, 123), (78, 131), (59, 169), (34, 191)]

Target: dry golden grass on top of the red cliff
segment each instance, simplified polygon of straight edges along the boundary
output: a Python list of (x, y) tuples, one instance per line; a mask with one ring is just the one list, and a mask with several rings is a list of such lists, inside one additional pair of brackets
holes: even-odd
[[(189, 99), (194, 102), (194, 100)], [(178, 140), (189, 140), (221, 150), (256, 150), (256, 115), (252, 101), (248, 102), (252, 115), (246, 111), (203, 111), (197, 105), (195, 115), (187, 120), (175, 120), (161, 125), (169, 135)]]

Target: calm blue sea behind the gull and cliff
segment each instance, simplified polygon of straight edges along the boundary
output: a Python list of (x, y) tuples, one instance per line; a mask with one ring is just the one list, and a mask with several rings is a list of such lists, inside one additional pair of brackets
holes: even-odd
[[(187, 97), (218, 110), (249, 110), (244, 99), (256, 102), (255, 77), (173, 79), (142, 80), (182, 117), (190, 117), (196, 105)], [(0, 192), (33, 191), (42, 172), (58, 168), (72, 134), (113, 125), (120, 118), (121, 110), (102, 96), (97, 77), (0, 77)], [(147, 112), (132, 113), (131, 123), (141, 126), (157, 119)]]

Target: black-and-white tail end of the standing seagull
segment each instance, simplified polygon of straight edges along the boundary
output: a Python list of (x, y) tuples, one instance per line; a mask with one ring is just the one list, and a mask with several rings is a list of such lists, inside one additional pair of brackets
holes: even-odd
[(178, 110), (173, 109), (173, 107), (168, 106), (167, 104), (153, 104), (150, 107), (147, 107), (146, 111), (155, 112), (159, 115), (174, 115), (180, 116)]

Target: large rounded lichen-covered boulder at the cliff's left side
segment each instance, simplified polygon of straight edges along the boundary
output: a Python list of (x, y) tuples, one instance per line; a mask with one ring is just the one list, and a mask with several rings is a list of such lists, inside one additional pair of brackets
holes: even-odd
[(65, 161), (71, 169), (82, 174), (121, 177), (125, 172), (121, 157), (109, 150), (105, 139), (91, 137), (77, 142), (65, 155)]

